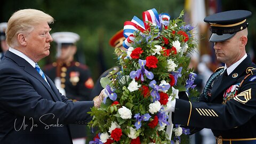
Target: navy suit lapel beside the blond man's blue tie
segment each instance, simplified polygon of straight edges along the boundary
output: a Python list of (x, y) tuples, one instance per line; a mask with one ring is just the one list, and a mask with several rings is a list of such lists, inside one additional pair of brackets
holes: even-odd
[[(18, 55), (7, 51), (5, 54), (5, 57), (8, 57), (10, 59), (12, 59), (14, 62), (16, 62), (20, 67), (24, 67), (24, 70), (30, 74), (31, 76), (35, 77), (36, 79), (38, 79), (39, 82), (41, 82), (44, 87), (46, 87), (47, 91), (49, 91), (51, 93), (51, 97), (54, 101), (59, 101), (57, 96), (54, 94), (54, 92), (52, 91), (51, 87), (47, 84), (47, 82), (44, 80), (44, 78), (36, 71), (35, 68), (33, 68), (25, 59), (19, 57)], [(49, 81), (47, 79), (47, 81)]]

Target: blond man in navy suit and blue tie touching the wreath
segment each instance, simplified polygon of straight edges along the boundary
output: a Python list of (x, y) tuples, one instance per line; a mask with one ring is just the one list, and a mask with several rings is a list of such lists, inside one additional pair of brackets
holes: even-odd
[(0, 143), (72, 143), (68, 124), (90, 121), (102, 101), (68, 100), (37, 65), (50, 54), (49, 24), (42, 11), (25, 9), (8, 21), (10, 46), (0, 62)]

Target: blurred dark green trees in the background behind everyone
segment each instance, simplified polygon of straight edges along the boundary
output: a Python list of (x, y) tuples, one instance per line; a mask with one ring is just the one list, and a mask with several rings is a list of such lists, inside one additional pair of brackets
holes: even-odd
[[(188, 0), (190, 1), (190, 0)], [(204, 1), (204, 0), (199, 0)], [(255, 13), (253, 1), (220, 1), (205, 0), (207, 6), (211, 1), (220, 3), (218, 9), (225, 10), (250, 10)], [(191, 2), (194, 2), (191, 0)], [(155, 8), (158, 13), (166, 12), (172, 18), (179, 16), (185, 9), (185, 0), (23, 0), (2, 1), (0, 5), (0, 22), (7, 22), (12, 13), (20, 9), (42, 10), (55, 19), (51, 25), (51, 33), (58, 31), (72, 31), (81, 36), (77, 43), (76, 58), (90, 67), (94, 81), (108, 68), (116, 65), (114, 49), (108, 42), (118, 30), (123, 28), (123, 23), (132, 19), (134, 15), (142, 19), (142, 12)], [(193, 8), (191, 8), (193, 9)], [(207, 13), (206, 13), (207, 14)], [(250, 19), (250, 28), (255, 35), (256, 19)], [(253, 37), (254, 38), (254, 37)], [(254, 41), (251, 45), (255, 45)], [(41, 61), (41, 65), (55, 60), (55, 44), (51, 45), (51, 55)]]

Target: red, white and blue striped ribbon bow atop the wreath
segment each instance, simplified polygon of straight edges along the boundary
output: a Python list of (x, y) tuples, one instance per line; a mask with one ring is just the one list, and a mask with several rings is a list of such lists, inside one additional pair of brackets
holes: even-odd
[[(123, 42), (123, 46), (128, 49), (132, 46), (134, 41), (134, 31), (143, 31), (148, 30), (150, 28), (149, 23), (153, 23), (159, 29), (162, 29), (162, 26), (168, 26), (170, 15), (167, 13), (161, 13), (158, 15), (156, 9), (151, 9), (142, 13), (143, 21), (138, 17), (134, 16), (131, 21), (124, 22), (124, 37), (126, 38)], [(160, 21), (159, 21), (160, 18)]]

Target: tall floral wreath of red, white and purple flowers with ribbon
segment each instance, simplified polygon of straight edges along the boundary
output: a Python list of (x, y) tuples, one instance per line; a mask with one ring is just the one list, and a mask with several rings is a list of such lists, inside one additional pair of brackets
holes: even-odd
[(151, 9), (142, 13), (143, 21), (134, 16), (124, 23), (127, 51), (115, 50), (121, 71), (101, 78), (105, 98), (89, 112), (89, 126), (98, 129), (90, 143), (179, 143), (182, 133), (189, 134), (180, 125), (172, 128), (166, 111), (179, 91), (198, 94), (187, 57), (196, 48), (193, 27), (181, 20), (183, 13), (170, 20)]

